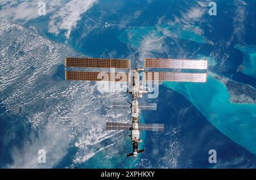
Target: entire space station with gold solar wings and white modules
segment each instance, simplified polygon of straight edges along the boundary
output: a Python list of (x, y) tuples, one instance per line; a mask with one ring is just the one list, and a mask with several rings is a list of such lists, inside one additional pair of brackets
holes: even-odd
[[(150, 93), (150, 88), (143, 86), (143, 82), (206, 82), (207, 81), (207, 60), (180, 60), (163, 58), (146, 58), (143, 68), (136, 67), (131, 69), (130, 60), (113, 58), (65, 58), (65, 80), (69, 81), (108, 81), (126, 82), (127, 93), (131, 95), (132, 101), (127, 103), (113, 102), (114, 109), (130, 109), (131, 123), (106, 122), (107, 130), (127, 130), (130, 131), (133, 152), (127, 157), (137, 157), (143, 153), (144, 149), (139, 150), (140, 131), (164, 131), (164, 124), (141, 124), (139, 123), (139, 112), (141, 110), (156, 110), (155, 103), (139, 104), (138, 99), (142, 94)], [(73, 70), (72, 68), (85, 68), (84, 70)], [(91, 69), (105, 69), (104, 73), (110, 78), (104, 79), (99, 76), (102, 71), (92, 72)], [(126, 70), (119, 76), (118, 73), (109, 72), (109, 69)], [(88, 70), (89, 69), (89, 70)], [(151, 69), (155, 69), (153, 72)], [(160, 71), (159, 71), (160, 70)], [(182, 72), (191, 70), (192, 72)], [(196, 71), (196, 72), (195, 72)], [(142, 78), (140, 78), (142, 74)], [(122, 78), (124, 77), (124, 78)]]

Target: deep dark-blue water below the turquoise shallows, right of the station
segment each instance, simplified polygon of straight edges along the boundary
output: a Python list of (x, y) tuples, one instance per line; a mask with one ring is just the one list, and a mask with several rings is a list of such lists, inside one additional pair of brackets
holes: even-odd
[[(183, 94), (160, 86), (156, 112), (142, 112), (147, 123), (163, 123), (164, 132), (146, 132), (138, 168), (255, 168), (253, 153), (219, 131)], [(168, 97), (168, 98), (167, 98)], [(209, 164), (209, 150), (217, 164)]]

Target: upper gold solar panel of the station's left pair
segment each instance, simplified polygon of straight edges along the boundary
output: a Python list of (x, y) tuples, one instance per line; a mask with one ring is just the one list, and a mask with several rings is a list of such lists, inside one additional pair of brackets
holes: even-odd
[(130, 60), (112, 59), (112, 58), (77, 58), (67, 57), (65, 60), (66, 67), (79, 68), (118, 68), (129, 69)]

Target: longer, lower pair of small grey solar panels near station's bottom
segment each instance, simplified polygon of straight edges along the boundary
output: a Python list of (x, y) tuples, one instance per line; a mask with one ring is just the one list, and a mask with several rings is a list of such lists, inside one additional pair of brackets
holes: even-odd
[[(129, 123), (106, 123), (107, 130), (130, 130)], [(139, 124), (139, 131), (164, 131), (164, 124)]]

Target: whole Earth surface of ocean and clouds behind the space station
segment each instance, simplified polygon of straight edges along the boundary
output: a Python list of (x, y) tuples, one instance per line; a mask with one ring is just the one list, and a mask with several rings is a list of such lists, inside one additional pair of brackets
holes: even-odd
[[(42, 6), (46, 5), (46, 14)], [(0, 2), (0, 168), (256, 168), (256, 19), (254, 0), (2, 0)], [(125, 93), (64, 79), (65, 57), (204, 58), (206, 83), (164, 82), (157, 111), (140, 122), (138, 158), (129, 122), (112, 110)], [(38, 150), (46, 163), (38, 163)], [(217, 152), (210, 164), (209, 150)]]

